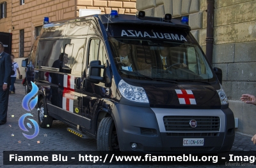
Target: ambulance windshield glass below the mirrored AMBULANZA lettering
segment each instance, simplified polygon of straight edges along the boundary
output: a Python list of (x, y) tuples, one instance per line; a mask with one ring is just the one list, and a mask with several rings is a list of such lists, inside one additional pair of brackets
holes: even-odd
[(194, 43), (112, 37), (109, 43), (122, 77), (206, 81), (213, 78), (202, 50)]

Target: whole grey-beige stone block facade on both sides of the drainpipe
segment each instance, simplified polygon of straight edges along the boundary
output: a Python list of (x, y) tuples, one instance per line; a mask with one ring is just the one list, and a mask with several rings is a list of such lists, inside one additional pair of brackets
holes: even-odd
[[(205, 52), (207, 0), (137, 0), (138, 11), (163, 17), (188, 16), (192, 34)], [(244, 104), (242, 94), (256, 95), (256, 0), (215, 0), (212, 66), (223, 71), (223, 88), (239, 118), (237, 131), (256, 134), (256, 106)]]

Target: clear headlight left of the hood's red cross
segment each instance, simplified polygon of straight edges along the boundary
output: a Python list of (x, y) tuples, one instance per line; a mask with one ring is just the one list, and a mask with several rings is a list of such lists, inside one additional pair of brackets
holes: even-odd
[(134, 87), (126, 83), (124, 80), (120, 80), (118, 89), (122, 96), (124, 96), (125, 99), (128, 99), (129, 101), (148, 103), (147, 94), (142, 87)]

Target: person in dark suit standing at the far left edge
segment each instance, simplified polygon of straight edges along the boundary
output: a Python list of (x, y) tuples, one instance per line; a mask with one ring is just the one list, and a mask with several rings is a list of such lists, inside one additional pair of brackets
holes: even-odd
[(4, 52), (4, 45), (0, 42), (0, 125), (6, 123), (7, 120), (11, 73), (11, 57), (8, 53)]

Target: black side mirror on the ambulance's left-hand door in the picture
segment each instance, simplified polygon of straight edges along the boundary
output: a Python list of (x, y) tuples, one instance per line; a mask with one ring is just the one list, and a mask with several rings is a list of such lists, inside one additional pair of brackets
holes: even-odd
[(100, 60), (92, 60), (89, 64), (86, 79), (92, 83), (99, 83), (104, 81), (104, 78), (100, 76), (101, 69), (105, 69), (105, 66), (100, 65)]

